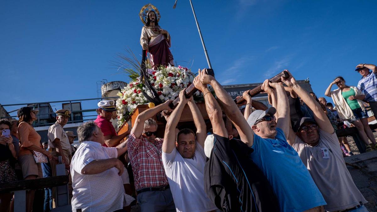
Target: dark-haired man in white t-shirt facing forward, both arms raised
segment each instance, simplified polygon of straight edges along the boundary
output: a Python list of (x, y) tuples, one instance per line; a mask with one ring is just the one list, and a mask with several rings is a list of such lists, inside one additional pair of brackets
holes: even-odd
[[(205, 194), (203, 183), (207, 161), (204, 153), (207, 128), (193, 97), (186, 98), (184, 92), (185, 89), (179, 93), (180, 102), (167, 119), (162, 143), (162, 162), (177, 212), (213, 211), (216, 206)], [(186, 104), (192, 111), (196, 133), (191, 129), (182, 129), (176, 134), (176, 126)]]

